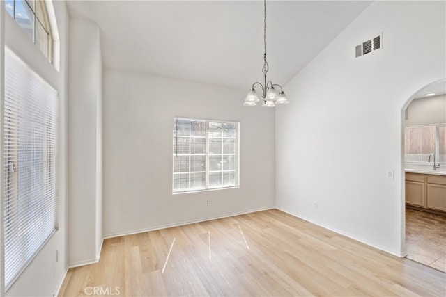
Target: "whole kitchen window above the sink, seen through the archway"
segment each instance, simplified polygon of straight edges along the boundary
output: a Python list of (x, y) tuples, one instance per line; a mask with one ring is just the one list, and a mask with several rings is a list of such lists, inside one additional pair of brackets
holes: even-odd
[(446, 125), (406, 127), (405, 161), (428, 163), (429, 154), (435, 154), (436, 163), (446, 163), (445, 128)]

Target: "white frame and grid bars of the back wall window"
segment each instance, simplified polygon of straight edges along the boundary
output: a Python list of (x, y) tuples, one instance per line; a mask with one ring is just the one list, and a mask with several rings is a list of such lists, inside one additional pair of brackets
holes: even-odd
[[(187, 154), (187, 156), (198, 156), (198, 155), (204, 155), (205, 156), (205, 169), (204, 171), (190, 171), (191, 168), (191, 162), (189, 161), (189, 171), (187, 171), (189, 173), (189, 176), (191, 176), (192, 173), (204, 173), (205, 175), (205, 183), (204, 183), (204, 188), (191, 188), (190, 184), (191, 184), (191, 179), (189, 180), (189, 187), (185, 188), (185, 189), (180, 189), (180, 190), (175, 190), (174, 185), (175, 185), (175, 175), (180, 175), (180, 174), (184, 174), (186, 172), (175, 172), (175, 166), (176, 166), (176, 161), (175, 158), (176, 156), (178, 156), (178, 148), (176, 149), (175, 145), (176, 143), (178, 143), (178, 137), (185, 137), (185, 136), (178, 136), (177, 132), (176, 132), (176, 121), (177, 120), (195, 120), (195, 121), (201, 121), (201, 122), (206, 122), (206, 132), (205, 132), (205, 136), (187, 136), (190, 138), (205, 138), (206, 141), (206, 150), (205, 150), (205, 154)], [(209, 136), (209, 125), (210, 123), (220, 123), (220, 124), (229, 124), (229, 125), (235, 125), (236, 126), (236, 136), (234, 136), (233, 138), (231, 137), (225, 137), (225, 136), (220, 136), (220, 137), (215, 137), (215, 136)], [(174, 126), (173, 126), (173, 138), (172, 138), (172, 194), (176, 195), (176, 194), (182, 194), (182, 193), (195, 193), (195, 192), (203, 192), (203, 191), (215, 191), (215, 190), (222, 190), (222, 189), (228, 189), (228, 188), (238, 188), (240, 187), (240, 122), (236, 122), (233, 120), (209, 120), (209, 119), (199, 119), (199, 118), (188, 118), (188, 117), (175, 117), (174, 118)], [(221, 138), (221, 139), (234, 139), (234, 169), (233, 170), (210, 170), (210, 156), (229, 156), (232, 154), (224, 154), (223, 149), (222, 149), (222, 153), (221, 154), (211, 154), (210, 153), (210, 138)], [(222, 146), (223, 146), (223, 142), (222, 142)], [(190, 144), (189, 144), (190, 147)], [(223, 179), (223, 174), (224, 172), (234, 172), (234, 184), (230, 185), (230, 186), (224, 186), (223, 181), (221, 186), (210, 186), (209, 184), (209, 175), (211, 172), (222, 172), (222, 179)]]

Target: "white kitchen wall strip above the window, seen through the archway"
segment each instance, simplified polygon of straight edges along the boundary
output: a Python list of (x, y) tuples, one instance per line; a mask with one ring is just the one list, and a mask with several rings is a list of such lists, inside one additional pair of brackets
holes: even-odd
[(407, 107), (406, 126), (441, 123), (446, 123), (446, 95), (415, 99)]

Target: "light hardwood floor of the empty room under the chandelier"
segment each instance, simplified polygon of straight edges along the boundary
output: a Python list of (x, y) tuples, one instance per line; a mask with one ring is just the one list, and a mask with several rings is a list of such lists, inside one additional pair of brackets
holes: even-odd
[(445, 284), (445, 273), (272, 209), (107, 239), (59, 296), (445, 296)]

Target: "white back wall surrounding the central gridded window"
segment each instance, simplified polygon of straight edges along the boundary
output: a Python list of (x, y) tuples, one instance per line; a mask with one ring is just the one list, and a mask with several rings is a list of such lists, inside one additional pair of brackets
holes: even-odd
[[(114, 70), (103, 82), (105, 236), (274, 207), (273, 110), (199, 83)], [(240, 188), (172, 195), (177, 116), (240, 121)]]

